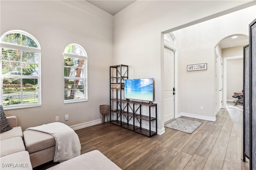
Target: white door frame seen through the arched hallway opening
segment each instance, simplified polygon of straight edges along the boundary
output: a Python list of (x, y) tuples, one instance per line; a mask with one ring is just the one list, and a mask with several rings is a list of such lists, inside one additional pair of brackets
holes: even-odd
[(242, 59), (243, 56), (234, 56), (234, 57), (224, 57), (223, 58), (223, 108), (226, 108), (226, 103), (227, 103), (227, 61), (228, 60), (233, 60), (233, 59)]

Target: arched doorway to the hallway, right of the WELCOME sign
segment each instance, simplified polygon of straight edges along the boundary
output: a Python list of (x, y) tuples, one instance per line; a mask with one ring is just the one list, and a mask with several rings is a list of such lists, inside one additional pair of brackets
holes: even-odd
[[(235, 34), (223, 38), (215, 47), (216, 111), (226, 108), (227, 101), (233, 101), (234, 91), (242, 91), (242, 54), (243, 46), (247, 44), (247, 35)], [(228, 64), (227, 61), (235, 59), (237, 61)]]

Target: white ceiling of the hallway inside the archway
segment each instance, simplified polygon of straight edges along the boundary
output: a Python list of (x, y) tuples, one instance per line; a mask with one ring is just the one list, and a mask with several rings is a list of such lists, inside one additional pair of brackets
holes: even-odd
[(241, 35), (238, 34), (236, 36), (238, 36), (237, 38), (232, 38), (234, 35), (228, 36), (224, 39), (222, 39), (219, 43), (220, 48), (222, 49), (226, 49), (226, 48), (230, 48), (230, 47), (238, 47), (238, 46), (245, 46), (247, 44), (249, 44), (249, 38), (247, 35)]

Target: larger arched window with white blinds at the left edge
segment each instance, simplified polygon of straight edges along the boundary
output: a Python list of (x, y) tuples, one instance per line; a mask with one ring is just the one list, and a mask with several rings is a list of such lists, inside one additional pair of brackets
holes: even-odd
[(41, 106), (41, 49), (32, 35), (14, 30), (1, 36), (0, 74), (5, 109)]

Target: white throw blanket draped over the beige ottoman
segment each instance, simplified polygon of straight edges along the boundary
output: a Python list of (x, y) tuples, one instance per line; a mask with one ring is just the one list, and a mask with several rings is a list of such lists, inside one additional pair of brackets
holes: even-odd
[(80, 155), (81, 144), (78, 135), (68, 125), (60, 122), (49, 123), (27, 130), (48, 133), (55, 138), (54, 162), (63, 162)]

